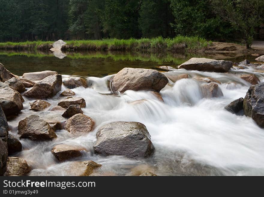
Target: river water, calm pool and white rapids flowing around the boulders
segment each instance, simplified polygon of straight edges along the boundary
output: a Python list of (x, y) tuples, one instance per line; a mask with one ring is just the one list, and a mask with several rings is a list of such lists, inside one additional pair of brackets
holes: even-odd
[[(242, 61), (245, 57), (230, 59)], [(108, 81), (112, 74), (123, 67), (153, 68), (159, 65), (176, 67), (175, 62), (184, 62), (182, 56), (175, 61), (142, 61), (138, 58), (63, 58), (52, 56), (28, 57), (25, 55), (0, 55), (0, 62), (19, 76), (25, 72), (55, 70), (63, 74), (63, 80), (71, 75), (83, 76), (89, 88), (72, 89), (76, 96), (83, 97), (85, 115), (95, 121), (90, 133), (71, 134), (57, 130), (57, 139), (33, 142), (20, 139), (23, 150), (13, 156), (24, 158), (31, 166), (29, 175), (79, 175), (74, 162), (93, 160), (102, 164), (93, 175), (139, 175), (150, 171), (157, 175), (264, 175), (264, 130), (244, 115), (235, 115), (224, 110), (232, 100), (244, 97), (250, 83), (240, 78), (242, 73), (254, 73), (264, 82), (262, 67), (230, 70), (228, 73), (213, 73), (173, 69), (174, 74), (187, 73), (188, 79), (170, 82), (161, 90), (164, 102), (147, 91), (126, 91), (111, 94)], [(253, 59), (253, 58), (251, 58)], [(179, 64), (179, 63), (178, 63)], [(205, 99), (201, 85), (204, 81), (195, 77), (212, 77), (221, 82), (223, 97)], [(66, 89), (62, 86), (62, 90)], [(48, 109), (41, 112), (29, 110), (29, 100), (24, 97), (24, 109), (19, 116), (9, 118), (10, 133), (17, 135), (18, 122), (31, 114), (45, 120), (65, 121), (61, 111), (49, 111), (58, 104), (59, 96), (48, 99)], [(142, 100), (141, 102), (131, 101)], [(138, 121), (146, 125), (155, 153), (146, 159), (129, 159), (122, 156), (104, 157), (93, 151), (96, 131), (112, 121)], [(56, 144), (81, 145), (87, 151), (82, 157), (59, 163), (51, 150)]]

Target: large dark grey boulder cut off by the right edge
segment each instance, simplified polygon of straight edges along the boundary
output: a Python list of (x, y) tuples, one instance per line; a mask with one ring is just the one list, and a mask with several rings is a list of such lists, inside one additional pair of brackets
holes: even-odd
[(264, 127), (264, 83), (251, 85), (243, 103), (244, 114)]

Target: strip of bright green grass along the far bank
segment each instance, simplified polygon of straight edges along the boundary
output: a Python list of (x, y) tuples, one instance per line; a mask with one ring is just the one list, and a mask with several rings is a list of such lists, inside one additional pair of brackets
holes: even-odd
[[(104, 40), (68, 40), (62, 47), (62, 51), (175, 51), (184, 52), (186, 50), (196, 50), (208, 45), (207, 41), (199, 37), (177, 36), (175, 38), (141, 38), (141, 39), (104, 39)], [(27, 41), (27, 42), (6, 42), (0, 43), (0, 49), (11, 50), (49, 50), (52, 41)]]

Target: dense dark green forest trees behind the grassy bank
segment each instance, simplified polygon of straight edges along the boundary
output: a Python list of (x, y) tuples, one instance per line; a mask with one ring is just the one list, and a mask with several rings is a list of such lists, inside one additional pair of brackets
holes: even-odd
[(0, 0), (0, 42), (176, 35), (248, 40), (263, 23), (263, 2)]

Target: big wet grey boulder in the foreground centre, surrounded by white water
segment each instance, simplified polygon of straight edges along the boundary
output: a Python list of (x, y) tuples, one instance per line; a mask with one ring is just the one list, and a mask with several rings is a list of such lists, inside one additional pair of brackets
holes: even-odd
[(124, 155), (130, 158), (148, 157), (154, 151), (146, 126), (139, 122), (112, 122), (98, 129), (95, 152)]

